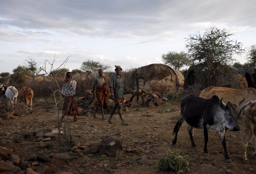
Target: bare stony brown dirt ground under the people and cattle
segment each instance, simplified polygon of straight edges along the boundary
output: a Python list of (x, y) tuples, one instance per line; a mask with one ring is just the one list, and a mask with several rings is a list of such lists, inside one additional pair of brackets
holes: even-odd
[[(167, 112), (170, 110), (171, 112)], [(24, 113), (24, 108), (22, 109)], [(224, 152), (218, 134), (209, 131), (208, 151), (210, 156), (203, 156), (203, 129), (195, 131), (195, 142), (198, 150), (191, 148), (190, 138), (187, 132), (187, 124), (184, 123), (178, 133), (178, 140), (175, 146), (172, 146), (173, 127), (177, 122), (180, 113), (179, 104), (165, 104), (155, 108), (133, 108), (130, 112), (124, 112), (124, 119), (129, 124), (122, 126), (121, 120), (117, 114), (114, 115), (113, 125), (102, 121), (100, 113), (98, 119), (90, 116), (79, 116), (75, 123), (69, 117), (70, 128), (76, 142), (82, 145), (100, 142), (107, 137), (118, 138), (123, 145), (124, 152), (116, 157), (105, 157), (101, 153), (83, 155), (74, 158), (69, 162), (57, 165), (62, 171), (71, 171), (72, 173), (129, 173), (129, 174), (154, 174), (159, 173), (157, 169), (158, 158), (163, 157), (167, 150), (177, 148), (184, 150), (189, 163), (190, 172), (196, 171), (200, 164), (212, 164), (216, 167), (216, 173), (255, 173), (256, 157), (252, 157), (254, 149), (249, 144), (247, 152), (249, 160), (253, 164), (243, 164), (242, 160), (242, 139), (243, 129), (239, 132), (226, 132), (227, 150), (232, 163), (224, 162)], [(105, 115), (106, 118), (109, 114)], [(50, 131), (56, 128), (58, 111), (53, 111), (53, 102), (47, 102), (44, 99), (34, 99), (33, 113), (24, 117), (16, 117), (11, 120), (1, 120), (0, 140), (4, 142), (16, 142), (16, 137), (20, 143), (36, 142), (31, 137), (33, 132)], [(239, 120), (239, 126), (242, 128), (242, 122)], [(57, 150), (55, 142), (52, 139), (52, 145), (41, 150), (38, 144), (20, 144), (16, 151), (21, 158), (27, 155), (37, 155), (43, 152), (49, 155), (53, 150)], [(128, 153), (125, 149), (132, 149)], [(150, 162), (140, 164), (137, 160), (146, 156)], [(40, 163), (35, 166), (39, 170), (49, 162)], [(228, 169), (228, 170), (227, 170)], [(36, 171), (35, 170), (35, 171)], [(190, 173), (188, 172), (188, 173)], [(161, 172), (168, 173), (168, 172)]]

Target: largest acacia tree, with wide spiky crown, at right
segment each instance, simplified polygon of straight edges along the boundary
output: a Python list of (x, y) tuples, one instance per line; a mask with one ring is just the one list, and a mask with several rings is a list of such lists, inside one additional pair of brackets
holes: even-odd
[(210, 78), (214, 76), (213, 69), (216, 66), (232, 65), (235, 60), (232, 56), (241, 56), (244, 52), (242, 43), (232, 39), (233, 33), (227, 32), (224, 28), (211, 28), (203, 35), (200, 32), (189, 35), (186, 40), (186, 48), (191, 60), (204, 66), (201, 72), (202, 80), (206, 86), (210, 86)]

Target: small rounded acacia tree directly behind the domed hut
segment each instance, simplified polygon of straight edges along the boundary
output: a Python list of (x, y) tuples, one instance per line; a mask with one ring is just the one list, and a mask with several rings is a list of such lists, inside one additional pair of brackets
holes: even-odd
[(171, 66), (171, 68), (180, 70), (183, 66), (191, 65), (191, 60), (188, 58), (187, 53), (181, 52), (168, 52), (162, 55), (164, 64)]

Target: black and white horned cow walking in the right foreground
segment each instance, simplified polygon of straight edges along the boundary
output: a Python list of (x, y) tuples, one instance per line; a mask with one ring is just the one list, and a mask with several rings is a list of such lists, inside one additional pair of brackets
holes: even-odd
[[(242, 102), (243, 100), (239, 104)], [(238, 111), (236, 107), (235, 104), (230, 102), (225, 104), (216, 95), (212, 96), (211, 99), (204, 99), (194, 95), (187, 96), (181, 101), (181, 114), (173, 129), (173, 134), (175, 134), (173, 145), (177, 142), (178, 131), (185, 120), (189, 125), (188, 133), (193, 148), (197, 148), (192, 136), (193, 128), (204, 128), (203, 155), (209, 156), (207, 151), (208, 129), (213, 129), (214, 132), (220, 132), (225, 161), (231, 162), (226, 148), (225, 131), (227, 128), (232, 131), (239, 131), (240, 129), (237, 124)]]

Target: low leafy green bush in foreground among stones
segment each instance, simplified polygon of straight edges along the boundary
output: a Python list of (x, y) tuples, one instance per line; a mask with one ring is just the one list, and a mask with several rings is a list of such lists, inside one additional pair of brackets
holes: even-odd
[(165, 158), (160, 158), (158, 161), (158, 170), (170, 170), (177, 174), (183, 174), (187, 172), (188, 162), (184, 156), (184, 151), (168, 150), (165, 154)]

